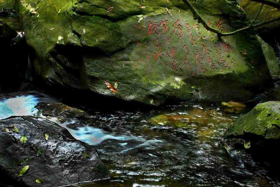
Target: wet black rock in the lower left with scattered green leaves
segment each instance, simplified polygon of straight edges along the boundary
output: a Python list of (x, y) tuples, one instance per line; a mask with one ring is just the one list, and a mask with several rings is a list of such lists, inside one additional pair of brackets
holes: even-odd
[[(24, 135), (25, 144), (20, 142)], [(18, 177), (26, 165), (29, 169)], [(94, 147), (74, 139), (54, 122), (31, 116), (0, 120), (0, 171), (7, 185), (30, 187), (37, 186), (40, 178), (44, 179), (40, 186), (56, 187), (108, 177)]]

